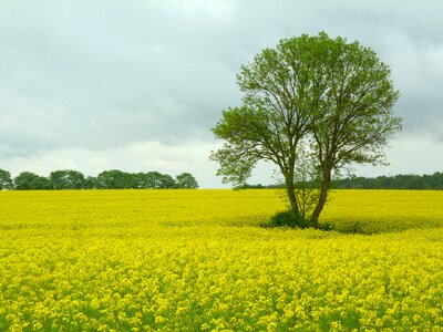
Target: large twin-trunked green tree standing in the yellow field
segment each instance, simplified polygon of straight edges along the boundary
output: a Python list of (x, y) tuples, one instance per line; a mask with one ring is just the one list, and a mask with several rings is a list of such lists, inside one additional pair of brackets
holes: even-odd
[[(305, 215), (297, 178), (303, 159), (315, 160), (305, 181), (318, 183), (310, 218), (318, 224), (333, 172), (382, 163), (383, 146), (401, 127), (392, 115), (399, 93), (390, 70), (357, 41), (303, 34), (284, 39), (243, 65), (237, 83), (243, 105), (223, 112), (213, 128), (225, 141), (210, 158), (224, 183), (241, 186), (259, 160), (275, 164), (290, 208)], [(312, 206), (308, 200), (309, 206)]]

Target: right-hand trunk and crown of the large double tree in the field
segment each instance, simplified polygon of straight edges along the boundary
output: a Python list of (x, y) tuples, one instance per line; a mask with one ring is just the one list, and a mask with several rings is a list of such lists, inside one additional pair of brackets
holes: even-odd
[(401, 120), (392, 115), (399, 92), (389, 66), (372, 50), (326, 33), (313, 44), (312, 58), (319, 64), (312, 74), (310, 124), (322, 178), (312, 214), (317, 221), (332, 173), (352, 164), (384, 164), (383, 147), (401, 129)]

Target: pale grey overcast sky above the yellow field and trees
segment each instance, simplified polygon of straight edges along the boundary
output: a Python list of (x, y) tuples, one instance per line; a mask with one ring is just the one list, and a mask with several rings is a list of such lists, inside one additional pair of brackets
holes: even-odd
[[(374, 50), (401, 93), (390, 165), (356, 174), (443, 172), (441, 0), (0, 0), (0, 168), (189, 172), (226, 187), (210, 128), (241, 104), (241, 64), (320, 31)], [(249, 183), (275, 183), (272, 169)]]

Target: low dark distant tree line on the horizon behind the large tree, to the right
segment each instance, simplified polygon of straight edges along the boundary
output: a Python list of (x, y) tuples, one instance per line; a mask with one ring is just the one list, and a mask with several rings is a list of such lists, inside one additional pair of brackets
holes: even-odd
[[(264, 186), (244, 185), (239, 189), (272, 189), (285, 188), (284, 184)], [(414, 190), (443, 190), (443, 173), (433, 175), (395, 175), (378, 177), (348, 177), (333, 179), (331, 188), (334, 189), (414, 189)]]

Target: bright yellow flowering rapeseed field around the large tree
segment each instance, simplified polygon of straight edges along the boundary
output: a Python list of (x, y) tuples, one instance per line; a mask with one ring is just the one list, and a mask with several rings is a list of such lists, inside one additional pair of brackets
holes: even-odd
[(0, 331), (443, 331), (443, 191), (0, 191)]

